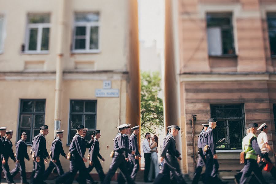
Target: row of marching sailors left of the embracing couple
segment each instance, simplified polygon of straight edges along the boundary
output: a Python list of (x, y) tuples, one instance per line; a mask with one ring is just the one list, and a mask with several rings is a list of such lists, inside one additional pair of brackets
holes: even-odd
[[(48, 126), (43, 125), (40, 127), (40, 134), (35, 136), (32, 141), (30, 155), (33, 158), (33, 172), (30, 182), (33, 184), (45, 183), (44, 180), (48, 178), (50, 173), (55, 168), (59, 177), (56, 178), (55, 183), (72, 183), (75, 175), (79, 171), (79, 177), (77, 181), (79, 183), (97, 183), (94, 182), (93, 178), (90, 176), (90, 171), (93, 168), (99, 174), (99, 178), (102, 183), (110, 183), (112, 176), (115, 174), (117, 168), (120, 168), (121, 173), (118, 177), (119, 183), (124, 183), (125, 180), (128, 183), (134, 183), (136, 174), (139, 170), (139, 158), (140, 153), (137, 144), (137, 135), (139, 134), (139, 126), (132, 127), (132, 135), (130, 134), (130, 125), (124, 124), (119, 127), (119, 133), (114, 138), (114, 149), (110, 155), (113, 158), (110, 169), (108, 173), (104, 174), (102, 170), (101, 163), (98, 158), (103, 162), (105, 159), (100, 155), (100, 144), (99, 138), (101, 137), (100, 130), (95, 130), (91, 135), (91, 140), (87, 141), (84, 139), (87, 133), (87, 128), (83, 125), (76, 126), (76, 135), (69, 147), (69, 153), (66, 156), (62, 147), (63, 130), (57, 131), (56, 137), (52, 142), (51, 151), (48, 153), (46, 149), (46, 139), (45, 136), (48, 135)], [(6, 131), (7, 127), (0, 127), (0, 154), (1, 154), (1, 165), (0, 173), (2, 169), (7, 183), (14, 183), (13, 177), (20, 171), (21, 173), (21, 183), (29, 183), (26, 180), (26, 169), (25, 169), (25, 159), (30, 160), (27, 153), (27, 134), (23, 132), (21, 139), (16, 144), (16, 153), (13, 153), (13, 145), (11, 143), (11, 138), (13, 135), (13, 130)], [(6, 135), (6, 139), (5, 136)], [(85, 162), (87, 159), (84, 157), (86, 148), (89, 148), (89, 166), (86, 168)], [(70, 171), (64, 173), (61, 166), (59, 156), (62, 155), (66, 159), (70, 160)], [(16, 167), (10, 172), (8, 159), (13, 159), (16, 162)], [(48, 168), (45, 170), (45, 163), (50, 159)], [(1, 178), (0, 178), (1, 179)], [(119, 181), (120, 180), (120, 181)], [(0, 180), (1, 183), (1, 180)]]

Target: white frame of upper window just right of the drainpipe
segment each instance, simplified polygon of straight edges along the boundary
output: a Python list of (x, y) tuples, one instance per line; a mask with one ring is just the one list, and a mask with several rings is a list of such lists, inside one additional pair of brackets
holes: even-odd
[[(76, 36), (76, 27), (86, 27), (85, 36)], [(98, 26), (98, 49), (90, 49), (90, 28)], [(75, 39), (76, 37), (83, 37), (86, 40), (85, 49), (75, 49)], [(74, 21), (74, 31), (73, 31), (73, 41), (72, 41), (72, 53), (99, 53), (100, 52), (100, 21), (92, 22), (76, 22)]]

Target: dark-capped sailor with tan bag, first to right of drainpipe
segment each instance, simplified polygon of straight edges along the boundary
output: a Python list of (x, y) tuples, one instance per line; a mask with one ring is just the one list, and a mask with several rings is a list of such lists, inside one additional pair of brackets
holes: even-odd
[(85, 140), (81, 136), (83, 133), (83, 128), (84, 128), (83, 125), (76, 126), (77, 133), (73, 137), (73, 140), (69, 147), (69, 151), (71, 154), (71, 158), (69, 158), (70, 171), (56, 178), (56, 183), (71, 184), (78, 171), (79, 171), (78, 182), (81, 184), (86, 183), (86, 178), (88, 178), (89, 174), (85, 167), (85, 162), (87, 162), (87, 159), (84, 157), (84, 153), (86, 151)]

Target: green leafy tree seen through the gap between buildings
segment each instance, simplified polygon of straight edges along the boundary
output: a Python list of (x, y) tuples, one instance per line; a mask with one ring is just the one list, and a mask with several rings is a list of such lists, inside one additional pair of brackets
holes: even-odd
[(141, 137), (146, 132), (157, 133), (163, 128), (163, 100), (158, 97), (161, 91), (159, 72), (141, 72)]

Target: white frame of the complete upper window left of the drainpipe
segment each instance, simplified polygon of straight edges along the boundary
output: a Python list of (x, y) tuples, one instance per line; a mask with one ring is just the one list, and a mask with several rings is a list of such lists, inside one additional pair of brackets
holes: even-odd
[[(28, 20), (29, 21), (29, 20)], [(36, 51), (29, 50), (29, 38), (30, 38), (30, 29), (37, 28), (37, 43), (36, 43)], [(27, 30), (25, 35), (25, 53), (28, 54), (48, 54), (49, 50), (41, 50), (41, 43), (42, 43), (42, 29), (43, 28), (49, 28), (51, 30), (51, 24), (50, 23), (37, 23), (37, 24), (27, 24)], [(50, 35), (50, 33), (49, 33)], [(49, 36), (50, 39), (50, 36)], [(49, 42), (50, 43), (50, 42)], [(48, 45), (48, 48), (50, 45)]]

